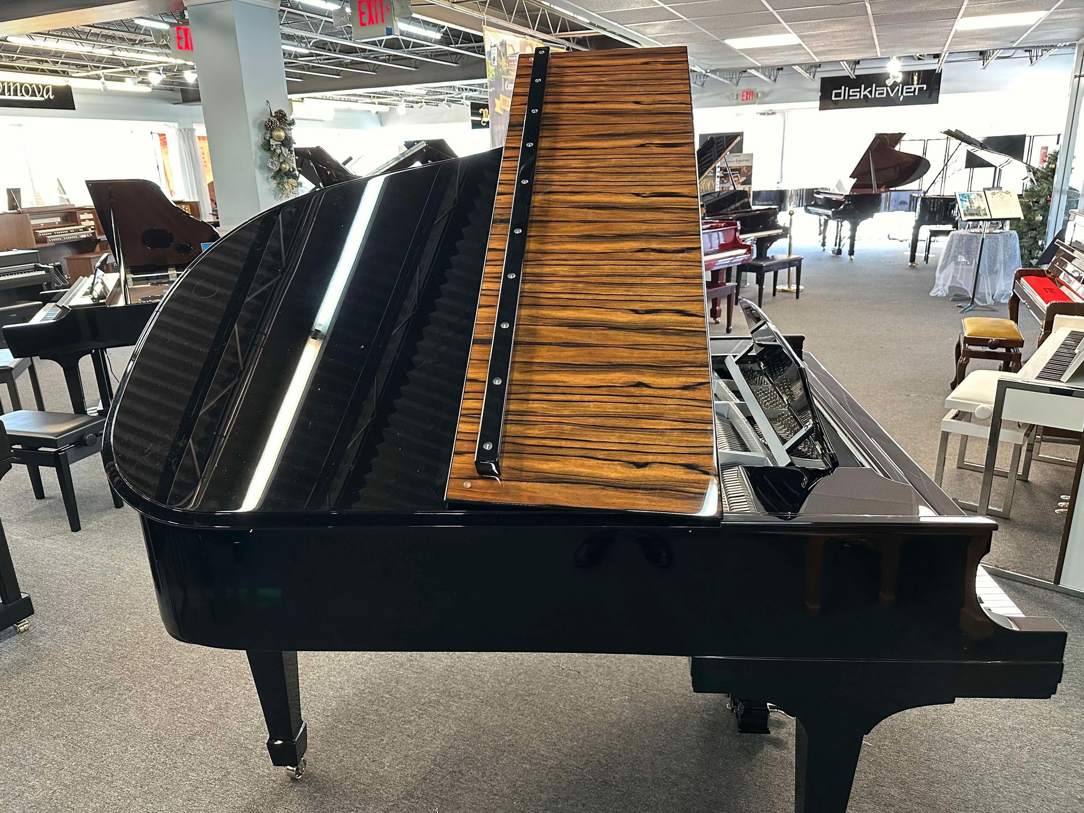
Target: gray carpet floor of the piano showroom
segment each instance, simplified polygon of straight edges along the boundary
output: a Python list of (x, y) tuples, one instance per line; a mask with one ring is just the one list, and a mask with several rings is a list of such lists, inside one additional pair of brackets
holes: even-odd
[[(809, 258), (806, 291), (767, 301), (769, 313), (806, 333), (931, 469), (958, 331), (955, 308), (927, 296), (933, 262), (907, 268), (899, 244), (860, 242), (853, 262), (796, 250)], [(62, 408), (61, 376), (42, 372), (47, 403)], [(1049, 575), (1054, 502), (1071, 474), (1035, 466), (989, 560)], [(54, 482), (44, 501), (18, 468), (0, 482), (37, 608), (27, 633), (0, 640), (0, 811), (792, 810), (792, 722), (737, 735), (724, 700), (694, 695), (676, 658), (302, 653), (309, 772), (291, 782), (268, 763), (244, 655), (165, 633), (136, 514), (113, 508), (98, 459), (74, 477), (77, 534)], [(946, 486), (966, 495), (978, 478), (953, 473)], [(866, 738), (852, 813), (1084, 808), (1084, 602), (1004, 588), (1070, 631), (1057, 696), (885, 721)]]

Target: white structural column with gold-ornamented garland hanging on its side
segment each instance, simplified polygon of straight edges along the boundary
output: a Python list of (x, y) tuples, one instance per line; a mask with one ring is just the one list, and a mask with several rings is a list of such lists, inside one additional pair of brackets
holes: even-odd
[(260, 149), (271, 109), (289, 112), (278, 0), (186, 0), (222, 230), (279, 203)]

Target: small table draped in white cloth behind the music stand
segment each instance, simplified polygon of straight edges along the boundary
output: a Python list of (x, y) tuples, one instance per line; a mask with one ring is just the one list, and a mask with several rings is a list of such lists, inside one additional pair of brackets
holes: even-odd
[[(971, 295), (975, 284), (975, 261), (979, 257), (981, 232), (954, 231), (949, 235), (930, 296)], [(1020, 238), (1015, 231), (986, 234), (982, 245), (979, 286), (975, 294), (978, 305), (1007, 302), (1012, 295), (1012, 278), (1020, 268)]]

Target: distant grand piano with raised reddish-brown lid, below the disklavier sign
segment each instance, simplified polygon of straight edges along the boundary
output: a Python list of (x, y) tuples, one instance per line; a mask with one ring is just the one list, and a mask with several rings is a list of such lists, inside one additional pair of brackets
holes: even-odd
[[(869, 142), (851, 178), (854, 184), (847, 193), (817, 190), (813, 203), (805, 207), (810, 215), (821, 218), (821, 247), (825, 247), (828, 223), (836, 222), (836, 240), (831, 253), (843, 253), (842, 224), (850, 225), (850, 245), (847, 256), (854, 259), (854, 238), (859, 223), (881, 211), (882, 195), (890, 190), (914, 183), (930, 168), (930, 163), (920, 155), (912, 155), (896, 150), (903, 139), (902, 132), (879, 132)], [(912, 255), (914, 256), (914, 255)]]

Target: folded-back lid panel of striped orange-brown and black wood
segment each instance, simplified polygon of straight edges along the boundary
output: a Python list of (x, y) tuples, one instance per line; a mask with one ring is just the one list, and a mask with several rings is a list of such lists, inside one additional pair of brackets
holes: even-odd
[(533, 60), (516, 77), (448, 499), (715, 514), (684, 48), (550, 54), (500, 477), (478, 474)]

